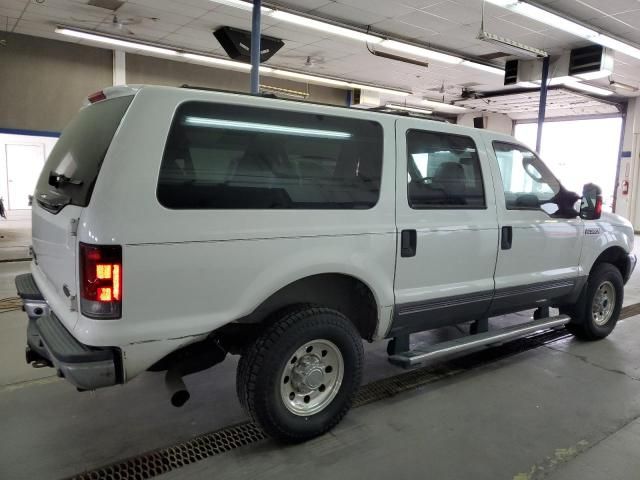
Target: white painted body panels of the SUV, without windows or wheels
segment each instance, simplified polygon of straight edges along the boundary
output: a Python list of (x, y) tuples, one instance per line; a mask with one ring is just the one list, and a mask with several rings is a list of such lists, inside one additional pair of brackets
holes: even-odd
[[(298, 110), (377, 121), (384, 162), (378, 204), (370, 210), (174, 211), (155, 192), (166, 135), (177, 106), (188, 100)], [(397, 126), (397, 130), (396, 130)], [(407, 128), (471, 137), (483, 170), (487, 209), (411, 210), (406, 201)], [(396, 138), (399, 143), (396, 146)], [(168, 87), (143, 87), (107, 151), (90, 204), (51, 215), (34, 208), (32, 272), (74, 336), (88, 345), (125, 352), (127, 379), (167, 353), (252, 312), (287, 284), (321, 273), (342, 273), (368, 285), (378, 304), (376, 339), (388, 331), (394, 303), (491, 290), (587, 272), (606, 246), (632, 248), (631, 227), (605, 216), (605, 233), (578, 262), (580, 220), (505, 211), (492, 139), (511, 137), (456, 125), (360, 110)], [(398, 161), (396, 161), (396, 158)], [(80, 216), (79, 241), (123, 248), (123, 316), (91, 320), (73, 312), (62, 286), (78, 291), (77, 244), (69, 236)], [(514, 226), (514, 249), (498, 251), (498, 227)], [(397, 227), (396, 227), (397, 224)], [(397, 231), (419, 232), (418, 255), (397, 257)], [(395, 296), (394, 296), (395, 277)]]

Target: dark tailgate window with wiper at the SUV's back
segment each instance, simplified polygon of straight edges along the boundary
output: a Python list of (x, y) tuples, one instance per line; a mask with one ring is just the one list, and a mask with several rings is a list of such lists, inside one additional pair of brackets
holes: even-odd
[(107, 149), (133, 96), (83, 108), (62, 132), (36, 186), (36, 200), (56, 212), (65, 205), (86, 207)]

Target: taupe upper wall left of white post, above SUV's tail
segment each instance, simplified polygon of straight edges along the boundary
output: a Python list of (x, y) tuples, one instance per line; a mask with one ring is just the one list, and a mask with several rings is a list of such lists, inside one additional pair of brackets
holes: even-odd
[(0, 48), (0, 129), (59, 132), (87, 94), (111, 85), (110, 50), (8, 34)]

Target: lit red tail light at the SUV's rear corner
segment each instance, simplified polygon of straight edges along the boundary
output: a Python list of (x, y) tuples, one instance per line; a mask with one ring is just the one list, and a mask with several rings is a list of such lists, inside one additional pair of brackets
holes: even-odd
[(80, 311), (91, 318), (122, 315), (122, 247), (80, 243)]

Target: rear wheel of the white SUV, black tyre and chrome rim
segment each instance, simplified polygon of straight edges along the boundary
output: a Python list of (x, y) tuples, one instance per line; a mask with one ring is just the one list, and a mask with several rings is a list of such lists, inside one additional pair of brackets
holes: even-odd
[(358, 331), (341, 313), (310, 306), (289, 311), (240, 359), (240, 403), (274, 438), (316, 437), (351, 407), (363, 355)]

